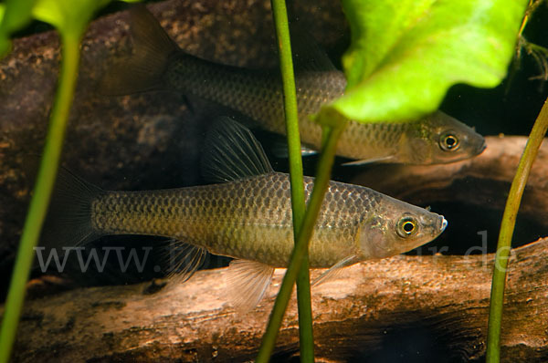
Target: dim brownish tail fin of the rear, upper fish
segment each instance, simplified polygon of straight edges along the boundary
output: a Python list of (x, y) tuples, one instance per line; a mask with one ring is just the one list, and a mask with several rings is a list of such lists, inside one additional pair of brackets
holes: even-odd
[(144, 5), (130, 9), (132, 56), (121, 59), (100, 81), (100, 92), (120, 96), (163, 88), (163, 76), (179, 47)]

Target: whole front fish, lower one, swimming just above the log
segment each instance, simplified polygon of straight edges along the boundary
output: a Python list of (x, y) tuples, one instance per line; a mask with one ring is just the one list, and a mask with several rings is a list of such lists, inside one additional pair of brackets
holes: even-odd
[[(175, 249), (169, 265), (183, 271), (183, 281), (206, 254), (232, 257), (229, 299), (252, 308), (274, 269), (290, 260), (289, 174), (274, 171), (250, 130), (227, 117), (216, 119), (206, 133), (202, 173), (211, 184), (134, 192), (103, 191), (73, 174), (59, 174), (62, 192), (56, 194), (62, 198), (53, 204), (63, 215), (62, 228), (51, 235), (60, 245), (113, 234), (168, 237)], [(307, 201), (313, 184), (313, 178), (304, 178)], [(430, 242), (447, 224), (427, 209), (330, 181), (311, 236), (310, 266), (329, 268), (326, 277), (346, 265), (402, 254)]]

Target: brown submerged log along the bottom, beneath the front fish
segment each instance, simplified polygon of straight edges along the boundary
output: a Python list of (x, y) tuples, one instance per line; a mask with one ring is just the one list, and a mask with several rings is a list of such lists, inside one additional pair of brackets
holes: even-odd
[[(317, 357), (384, 361), (405, 342), (411, 357), (424, 360), (434, 353), (451, 361), (481, 357), (492, 264), (492, 255), (402, 255), (346, 268), (312, 289)], [(29, 301), (14, 361), (248, 361), (257, 353), (282, 271), (268, 298), (245, 315), (227, 304), (224, 269), (198, 272), (156, 293), (150, 284), (93, 287)], [(546, 281), (548, 240), (512, 252), (503, 361), (548, 358)], [(297, 354), (298, 339), (293, 301), (275, 358)]]

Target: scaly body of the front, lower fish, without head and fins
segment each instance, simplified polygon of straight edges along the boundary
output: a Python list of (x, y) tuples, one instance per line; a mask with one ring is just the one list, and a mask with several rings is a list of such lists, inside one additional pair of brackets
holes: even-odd
[[(312, 185), (306, 178), (307, 199)], [(311, 240), (311, 266), (329, 267), (353, 254), (358, 225), (381, 212), (380, 199), (377, 192), (332, 181)], [(282, 173), (167, 191), (104, 192), (91, 210), (99, 233), (174, 237), (279, 267), (293, 247), (290, 182)]]

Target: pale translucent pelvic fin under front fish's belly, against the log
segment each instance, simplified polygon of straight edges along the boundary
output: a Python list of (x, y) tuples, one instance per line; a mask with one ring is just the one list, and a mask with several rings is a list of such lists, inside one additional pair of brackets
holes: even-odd
[(270, 285), (274, 267), (248, 260), (232, 260), (227, 269), (230, 303), (240, 313), (258, 305)]

